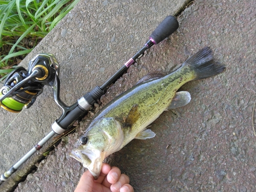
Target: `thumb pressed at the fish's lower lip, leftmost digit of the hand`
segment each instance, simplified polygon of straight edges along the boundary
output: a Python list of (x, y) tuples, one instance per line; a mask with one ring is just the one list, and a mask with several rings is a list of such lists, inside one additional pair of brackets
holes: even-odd
[(75, 189), (75, 192), (92, 191), (94, 177), (89, 170), (82, 174), (80, 181)]

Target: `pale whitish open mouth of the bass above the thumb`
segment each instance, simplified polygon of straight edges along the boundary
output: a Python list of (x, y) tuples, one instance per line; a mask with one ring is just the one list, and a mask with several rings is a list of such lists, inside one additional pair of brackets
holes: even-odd
[(77, 149), (72, 150), (70, 153), (70, 157), (81, 162), (83, 167), (88, 168), (95, 180), (99, 178), (104, 156), (105, 153), (95, 153), (91, 151), (84, 152)]

